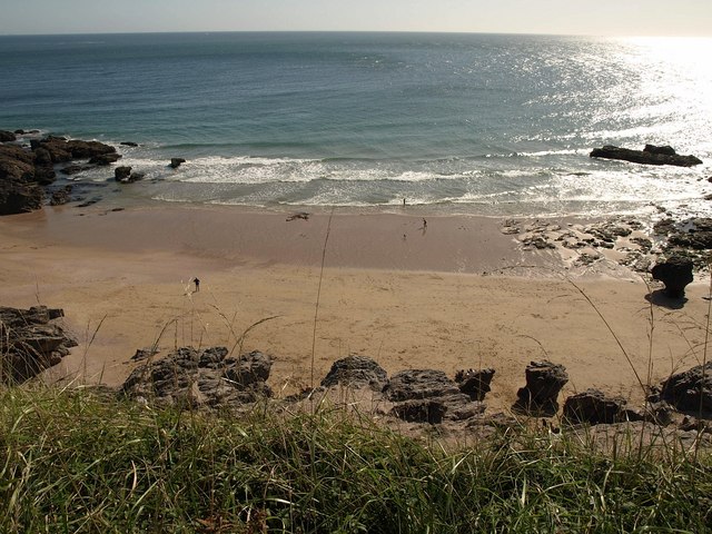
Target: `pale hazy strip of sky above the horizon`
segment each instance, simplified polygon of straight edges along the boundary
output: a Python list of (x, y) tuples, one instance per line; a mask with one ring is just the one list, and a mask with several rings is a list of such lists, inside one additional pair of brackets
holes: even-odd
[(146, 31), (712, 37), (712, 0), (0, 0), (0, 34)]

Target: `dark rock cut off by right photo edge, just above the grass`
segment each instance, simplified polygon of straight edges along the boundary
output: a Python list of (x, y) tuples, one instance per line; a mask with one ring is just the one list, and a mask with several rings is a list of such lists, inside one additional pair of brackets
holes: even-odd
[(661, 384), (661, 397), (680, 412), (712, 416), (712, 362), (672, 375)]

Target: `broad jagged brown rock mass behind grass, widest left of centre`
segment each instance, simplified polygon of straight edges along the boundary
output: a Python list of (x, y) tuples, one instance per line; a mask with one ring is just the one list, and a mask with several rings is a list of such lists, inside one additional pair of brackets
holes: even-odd
[(271, 396), (270, 368), (259, 352), (235, 358), (225, 347), (184, 347), (134, 369), (121, 392), (161, 405), (238, 407)]

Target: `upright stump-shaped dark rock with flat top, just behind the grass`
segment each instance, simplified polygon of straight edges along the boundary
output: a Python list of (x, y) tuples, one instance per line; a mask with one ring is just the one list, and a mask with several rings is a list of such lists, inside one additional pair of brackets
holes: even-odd
[(568, 382), (566, 368), (551, 362), (532, 362), (525, 372), (526, 385), (517, 392), (516, 411), (554, 415), (558, 392)]

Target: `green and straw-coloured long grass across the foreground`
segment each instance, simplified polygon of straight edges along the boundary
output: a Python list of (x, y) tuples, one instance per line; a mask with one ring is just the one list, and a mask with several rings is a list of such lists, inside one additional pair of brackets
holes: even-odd
[(452, 451), (315, 412), (2, 389), (0, 532), (712, 532), (709, 453), (604, 454), (534, 431)]

